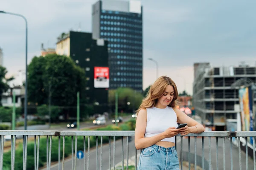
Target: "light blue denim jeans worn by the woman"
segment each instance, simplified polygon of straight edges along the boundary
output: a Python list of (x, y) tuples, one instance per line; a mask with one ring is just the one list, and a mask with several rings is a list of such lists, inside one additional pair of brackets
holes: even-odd
[(156, 144), (142, 149), (137, 170), (180, 170), (175, 147), (161, 147)]

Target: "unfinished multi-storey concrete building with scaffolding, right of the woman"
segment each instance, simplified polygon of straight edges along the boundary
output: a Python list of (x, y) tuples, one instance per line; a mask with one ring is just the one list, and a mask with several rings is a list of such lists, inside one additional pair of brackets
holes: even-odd
[[(256, 65), (214, 67), (209, 63), (194, 64), (193, 105), (202, 123), (215, 130), (225, 130), (227, 119), (236, 119), (235, 105), (239, 104), (237, 82), (256, 82)], [(256, 93), (254, 93), (254, 103)]]

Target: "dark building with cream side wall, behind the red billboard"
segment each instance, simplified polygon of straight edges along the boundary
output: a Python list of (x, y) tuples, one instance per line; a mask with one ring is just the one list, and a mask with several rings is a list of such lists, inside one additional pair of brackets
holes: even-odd
[(94, 88), (94, 67), (108, 67), (108, 41), (92, 39), (91, 33), (70, 31), (58, 38), (56, 53), (70, 56), (85, 70), (87, 85), (81, 94), (96, 113), (108, 111), (108, 88)]

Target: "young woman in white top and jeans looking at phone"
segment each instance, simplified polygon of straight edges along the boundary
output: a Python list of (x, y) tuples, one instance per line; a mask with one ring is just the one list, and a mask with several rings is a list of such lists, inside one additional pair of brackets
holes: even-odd
[[(137, 170), (179, 170), (175, 135), (204, 132), (204, 126), (176, 108), (177, 87), (171, 78), (159, 77), (137, 110), (135, 147), (142, 149)], [(176, 129), (177, 122), (187, 123)]]

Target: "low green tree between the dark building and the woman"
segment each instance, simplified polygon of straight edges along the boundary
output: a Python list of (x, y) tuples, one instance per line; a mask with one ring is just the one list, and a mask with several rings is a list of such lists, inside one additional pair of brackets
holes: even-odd
[(132, 112), (137, 110), (142, 102), (143, 94), (131, 88), (118, 88), (108, 91), (108, 102), (111, 109), (115, 108), (115, 94), (118, 94), (118, 108), (122, 111)]

